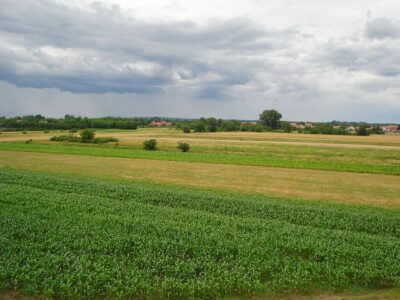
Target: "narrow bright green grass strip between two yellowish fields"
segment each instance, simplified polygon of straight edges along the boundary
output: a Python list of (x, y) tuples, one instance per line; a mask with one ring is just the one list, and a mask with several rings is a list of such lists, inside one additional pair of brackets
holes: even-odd
[(281, 155), (279, 153), (256, 155), (198, 152), (181, 153), (178, 151), (144, 151), (109, 146), (52, 145), (39, 143), (23, 144), (11, 142), (0, 143), (0, 150), (400, 175), (400, 166), (397, 164), (366, 164), (359, 161), (340, 162), (320, 160), (318, 158), (301, 159), (293, 156)]

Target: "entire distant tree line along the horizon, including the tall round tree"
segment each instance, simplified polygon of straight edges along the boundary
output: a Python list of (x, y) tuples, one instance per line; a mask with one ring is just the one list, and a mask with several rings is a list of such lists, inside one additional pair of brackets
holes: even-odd
[[(189, 132), (221, 132), (221, 131), (277, 131), (334, 134), (334, 135), (369, 135), (383, 134), (379, 124), (355, 122), (325, 122), (325, 123), (290, 123), (282, 121), (282, 114), (274, 109), (264, 110), (257, 121), (223, 120), (216, 118), (200, 119), (169, 119), (176, 129), (185, 133)], [(153, 120), (159, 118), (87, 118), (65, 115), (64, 118), (46, 118), (41, 115), (28, 115), (23, 117), (0, 117), (0, 130), (81, 130), (86, 128), (97, 129), (137, 129), (138, 127), (151, 126)], [(353, 127), (354, 130), (349, 130)]]

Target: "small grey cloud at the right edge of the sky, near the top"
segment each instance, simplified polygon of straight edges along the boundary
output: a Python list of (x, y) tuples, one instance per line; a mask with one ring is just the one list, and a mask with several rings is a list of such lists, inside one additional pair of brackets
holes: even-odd
[(376, 18), (367, 22), (365, 35), (372, 39), (400, 37), (400, 24), (387, 18)]

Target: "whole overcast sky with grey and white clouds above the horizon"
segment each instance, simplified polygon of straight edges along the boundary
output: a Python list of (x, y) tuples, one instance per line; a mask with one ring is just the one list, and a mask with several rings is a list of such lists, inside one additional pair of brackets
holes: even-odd
[(0, 7), (0, 116), (400, 123), (399, 0)]

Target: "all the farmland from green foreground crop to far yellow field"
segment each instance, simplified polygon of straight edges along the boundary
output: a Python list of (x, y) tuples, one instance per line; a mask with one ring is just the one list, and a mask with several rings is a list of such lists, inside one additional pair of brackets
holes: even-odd
[[(118, 144), (89, 145), (57, 134), (0, 135), (3, 290), (400, 296), (399, 135), (105, 130)], [(149, 138), (157, 151), (142, 150)]]

